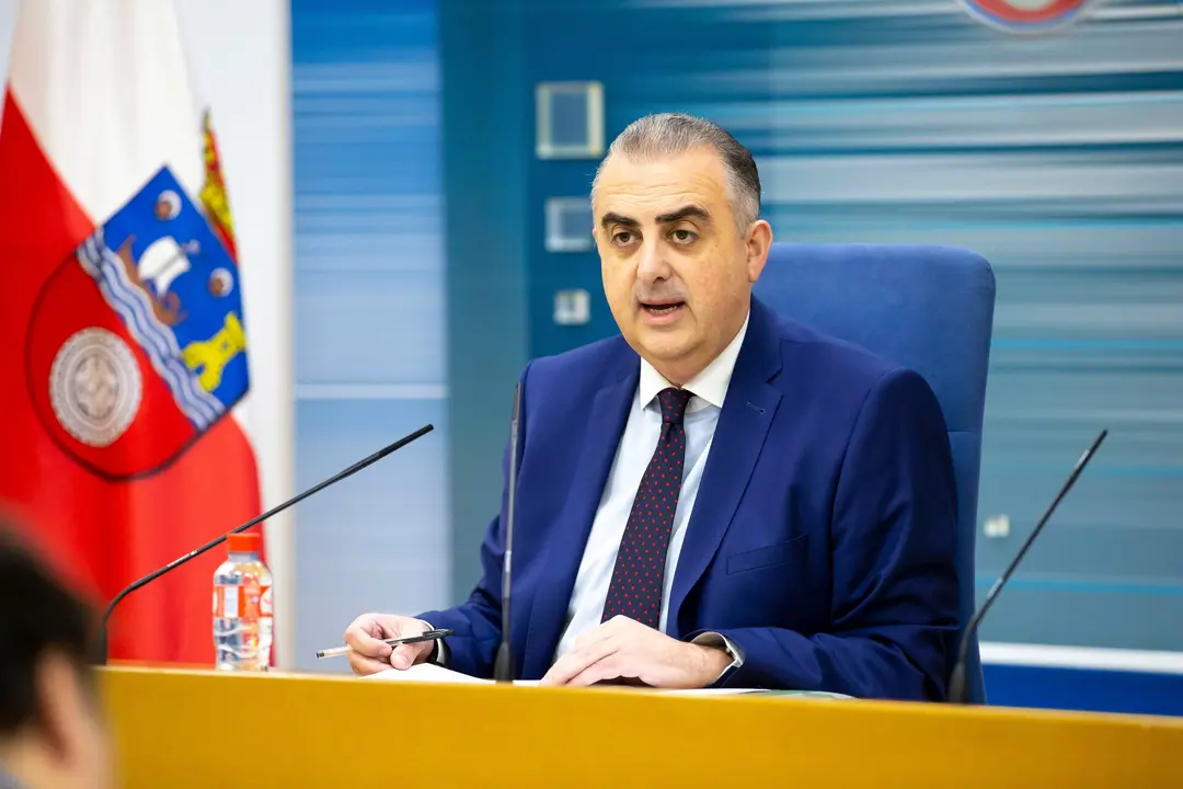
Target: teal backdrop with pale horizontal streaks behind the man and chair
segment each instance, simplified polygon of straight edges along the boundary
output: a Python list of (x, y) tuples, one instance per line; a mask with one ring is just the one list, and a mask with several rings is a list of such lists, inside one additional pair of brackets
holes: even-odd
[[(605, 85), (640, 115), (722, 122), (787, 241), (955, 244), (996, 267), (980, 519), (984, 591), (1101, 427), (1108, 441), (983, 636), (1183, 649), (1183, 7), (1110, 0), (1021, 38), (956, 0), (580, 0), (519, 8), (526, 82)], [(547, 252), (547, 198), (594, 161), (535, 161), (531, 354), (615, 331), (594, 251)], [(552, 295), (593, 296), (556, 326)], [(955, 326), (950, 328), (955, 330)]]

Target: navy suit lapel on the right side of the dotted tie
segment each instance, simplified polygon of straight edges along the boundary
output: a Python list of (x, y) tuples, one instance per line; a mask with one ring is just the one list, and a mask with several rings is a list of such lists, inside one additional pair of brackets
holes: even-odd
[(666, 625), (674, 638), (681, 635), (678, 625), (681, 604), (731, 525), (781, 402), (781, 393), (768, 384), (781, 369), (780, 344), (775, 316), (752, 299), (748, 334), (736, 358), (674, 570)]

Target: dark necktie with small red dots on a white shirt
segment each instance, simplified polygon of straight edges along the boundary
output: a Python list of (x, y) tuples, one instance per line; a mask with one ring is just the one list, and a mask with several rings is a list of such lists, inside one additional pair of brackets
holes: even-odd
[(672, 387), (658, 393), (661, 438), (633, 499), (601, 621), (623, 615), (654, 629), (660, 625), (666, 550), (686, 459), (686, 428), (681, 420), (691, 396), (690, 392)]

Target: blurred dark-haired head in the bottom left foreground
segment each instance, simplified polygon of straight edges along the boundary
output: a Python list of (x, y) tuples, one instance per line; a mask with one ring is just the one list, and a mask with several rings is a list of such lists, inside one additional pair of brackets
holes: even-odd
[(0, 787), (108, 787), (91, 610), (0, 520)]

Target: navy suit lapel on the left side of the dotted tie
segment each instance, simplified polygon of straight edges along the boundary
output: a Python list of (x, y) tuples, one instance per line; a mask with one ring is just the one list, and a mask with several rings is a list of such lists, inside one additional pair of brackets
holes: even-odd
[[(575, 587), (575, 576), (583, 558), (583, 548), (636, 394), (640, 361), (623, 341), (621, 345), (623, 350), (620, 363), (614, 366), (615, 375), (606, 376), (609, 382), (595, 394), (583, 422), (583, 440), (578, 447), (571, 486), (565, 492), (567, 503), (542, 556), (542, 567), (545, 569), (536, 586), (530, 609), (530, 628), (523, 658), (525, 677), (541, 677), (550, 667)], [(558, 491), (550, 493), (564, 494)]]

